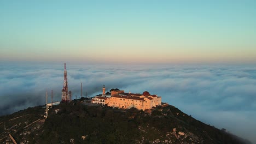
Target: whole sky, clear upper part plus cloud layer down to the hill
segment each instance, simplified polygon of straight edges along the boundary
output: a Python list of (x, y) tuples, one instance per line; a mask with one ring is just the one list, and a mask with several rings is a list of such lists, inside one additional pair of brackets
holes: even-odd
[[(256, 143), (256, 1), (0, 1), (0, 115), (103, 85)], [(84, 93), (85, 95), (85, 93)]]

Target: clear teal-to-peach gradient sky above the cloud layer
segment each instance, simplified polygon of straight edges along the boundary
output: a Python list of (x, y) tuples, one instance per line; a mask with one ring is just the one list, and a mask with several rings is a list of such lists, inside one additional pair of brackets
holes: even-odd
[(0, 61), (256, 63), (256, 1), (0, 1)]

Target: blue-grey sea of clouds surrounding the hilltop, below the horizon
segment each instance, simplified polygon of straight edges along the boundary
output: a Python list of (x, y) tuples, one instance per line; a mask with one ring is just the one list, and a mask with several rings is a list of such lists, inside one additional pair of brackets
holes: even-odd
[[(0, 64), (0, 116), (45, 104), (45, 92), (61, 100), (63, 64)], [(71, 65), (73, 99), (111, 88), (158, 94), (206, 124), (256, 143), (255, 65)], [(50, 101), (50, 98), (49, 98)]]

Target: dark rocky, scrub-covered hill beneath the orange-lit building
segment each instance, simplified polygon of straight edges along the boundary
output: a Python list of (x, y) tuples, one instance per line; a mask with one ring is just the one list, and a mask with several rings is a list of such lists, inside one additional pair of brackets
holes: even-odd
[(44, 111), (37, 106), (0, 117), (0, 143), (250, 143), (171, 105), (121, 110), (83, 99), (51, 107), (47, 119)]

